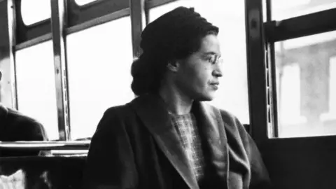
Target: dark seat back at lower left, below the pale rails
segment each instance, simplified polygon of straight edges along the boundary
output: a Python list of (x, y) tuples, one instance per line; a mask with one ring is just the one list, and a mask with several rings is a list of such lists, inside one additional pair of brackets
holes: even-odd
[[(85, 156), (0, 158), (1, 179), (23, 175), (24, 188), (81, 188)], [(3, 179), (6, 180), (6, 179)], [(13, 179), (18, 181), (18, 179)]]

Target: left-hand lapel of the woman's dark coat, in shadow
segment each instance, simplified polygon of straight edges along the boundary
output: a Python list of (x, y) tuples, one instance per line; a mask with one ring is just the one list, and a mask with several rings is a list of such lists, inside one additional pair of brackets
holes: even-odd
[(158, 96), (148, 94), (134, 99), (131, 105), (187, 185), (192, 189), (199, 189), (179, 136), (172, 127), (165, 102)]

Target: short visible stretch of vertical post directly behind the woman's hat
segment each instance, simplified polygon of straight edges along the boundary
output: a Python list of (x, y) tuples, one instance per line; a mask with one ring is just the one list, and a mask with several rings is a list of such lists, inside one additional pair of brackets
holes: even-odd
[(130, 0), (133, 57), (141, 55), (141, 32), (146, 25), (145, 0)]

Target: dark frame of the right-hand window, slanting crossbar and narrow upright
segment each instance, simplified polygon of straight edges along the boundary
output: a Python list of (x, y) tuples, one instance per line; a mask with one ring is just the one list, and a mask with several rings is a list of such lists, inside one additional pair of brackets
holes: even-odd
[(300, 38), (314, 34), (321, 34), (328, 31), (336, 31), (336, 8), (329, 10), (322, 10), (316, 13), (309, 13), (294, 18), (288, 18), (281, 21), (273, 21), (271, 18), (271, 1), (267, 0), (267, 22), (265, 22), (265, 43), (269, 54), (267, 55), (270, 62), (271, 84), (272, 84), (272, 98), (271, 98), (271, 113), (272, 113), (272, 128), (269, 130), (274, 131), (268, 137), (276, 139), (279, 137), (278, 113), (276, 95), (276, 62), (274, 43), (285, 41), (292, 38)]

